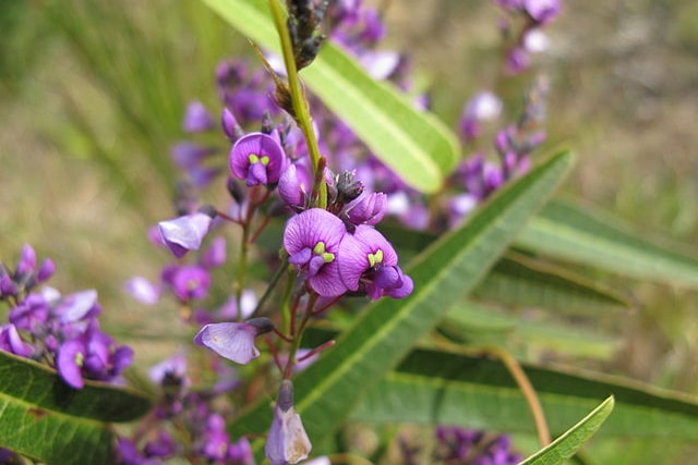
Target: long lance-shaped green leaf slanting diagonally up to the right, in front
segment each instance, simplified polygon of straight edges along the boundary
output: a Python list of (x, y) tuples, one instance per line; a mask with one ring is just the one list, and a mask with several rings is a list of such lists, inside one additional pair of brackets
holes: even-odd
[[(559, 154), (491, 198), (470, 222), (432, 244), (406, 269), (414, 292), (366, 308), (337, 345), (296, 379), (296, 408), (312, 441), (321, 443), (360, 397), (393, 368), (483, 277), (507, 244), (551, 195), (569, 168)], [(267, 402), (243, 414), (232, 432), (263, 433)]]

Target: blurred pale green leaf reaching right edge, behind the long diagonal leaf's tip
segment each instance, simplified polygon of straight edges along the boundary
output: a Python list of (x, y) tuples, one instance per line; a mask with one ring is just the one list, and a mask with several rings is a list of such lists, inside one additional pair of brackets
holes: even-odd
[(549, 204), (517, 245), (629, 278), (698, 286), (695, 250), (650, 241), (614, 218), (568, 203)]

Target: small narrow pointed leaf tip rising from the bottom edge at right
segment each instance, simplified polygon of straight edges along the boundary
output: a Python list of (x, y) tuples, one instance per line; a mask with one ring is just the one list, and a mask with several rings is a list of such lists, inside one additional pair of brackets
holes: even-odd
[(558, 465), (575, 455), (591, 438), (613, 411), (613, 396), (606, 399), (577, 425), (569, 428), (546, 448), (531, 455), (520, 465)]

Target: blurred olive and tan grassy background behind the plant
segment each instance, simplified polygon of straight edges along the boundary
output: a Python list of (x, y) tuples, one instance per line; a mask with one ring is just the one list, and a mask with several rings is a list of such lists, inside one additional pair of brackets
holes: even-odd
[[(410, 50), (419, 85), (452, 126), (471, 93), (501, 82), (500, 12), (491, 1), (373, 3), (385, 11), (386, 48)], [(534, 66), (552, 82), (546, 147), (578, 155), (563, 194), (650, 236), (695, 246), (698, 7), (567, 1), (547, 30), (551, 50)], [(169, 147), (184, 137), (189, 100), (219, 111), (216, 63), (249, 52), (192, 0), (0, 4), (0, 259), (14, 261), (31, 243), (57, 262), (56, 287), (97, 289), (107, 325), (135, 345), (142, 366), (182, 330), (177, 308), (144, 308), (122, 292), (127, 279), (155, 278), (167, 260), (151, 248), (146, 230), (173, 216)], [(497, 89), (514, 113), (531, 77)], [(631, 311), (594, 321), (613, 334), (611, 351), (576, 359), (579, 353), (551, 350), (550, 338), (541, 348), (529, 330), (515, 341), (524, 356), (698, 394), (696, 293), (611, 279), (633, 303)], [(540, 318), (534, 309), (522, 315)], [(561, 319), (571, 333), (576, 322)], [(688, 453), (682, 446), (674, 456), (641, 441), (622, 446), (628, 464), (681, 463)], [(604, 453), (617, 457), (617, 448), (595, 448), (598, 462), (619, 463), (603, 461)]]

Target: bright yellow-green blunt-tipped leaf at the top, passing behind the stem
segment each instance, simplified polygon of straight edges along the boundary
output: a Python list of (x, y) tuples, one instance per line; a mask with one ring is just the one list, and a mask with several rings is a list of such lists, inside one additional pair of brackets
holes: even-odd
[[(230, 25), (280, 52), (264, 0), (203, 0)], [(418, 111), (393, 86), (376, 82), (338, 47), (323, 45), (301, 73), (308, 86), (376, 156), (412, 187), (434, 193), (459, 158), (456, 137), (432, 114)]]

